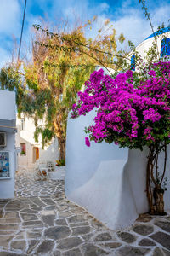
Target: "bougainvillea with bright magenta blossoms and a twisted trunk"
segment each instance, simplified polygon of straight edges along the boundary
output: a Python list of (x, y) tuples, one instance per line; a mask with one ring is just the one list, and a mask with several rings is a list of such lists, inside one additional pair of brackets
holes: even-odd
[[(116, 143), (120, 147), (150, 148), (146, 193), (153, 214), (164, 213), (163, 194), (170, 143), (170, 63), (159, 62), (144, 67), (144, 72), (127, 70), (116, 78), (94, 71), (85, 83), (84, 92), (72, 107), (71, 118), (86, 115), (94, 108), (94, 125), (85, 128), (89, 147), (95, 143)], [(158, 172), (158, 155), (165, 152), (162, 173)]]

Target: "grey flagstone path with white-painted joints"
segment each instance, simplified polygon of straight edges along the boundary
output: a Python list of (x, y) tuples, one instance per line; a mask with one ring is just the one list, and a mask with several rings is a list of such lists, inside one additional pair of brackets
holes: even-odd
[(141, 216), (114, 232), (67, 201), (63, 181), (16, 175), (16, 197), (0, 201), (0, 256), (170, 256), (170, 217)]

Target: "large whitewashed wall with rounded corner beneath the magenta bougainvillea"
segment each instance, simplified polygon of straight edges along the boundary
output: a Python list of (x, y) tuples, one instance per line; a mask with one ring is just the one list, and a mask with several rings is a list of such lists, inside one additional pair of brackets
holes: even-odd
[[(145, 194), (148, 149), (129, 150), (114, 143), (92, 143), (88, 148), (83, 130), (94, 123), (94, 115), (95, 112), (68, 119), (65, 194), (116, 230), (133, 224), (139, 213), (149, 209)], [(166, 176), (170, 179), (168, 168)], [(167, 187), (170, 191), (169, 184)], [(167, 193), (166, 209), (170, 208)]]

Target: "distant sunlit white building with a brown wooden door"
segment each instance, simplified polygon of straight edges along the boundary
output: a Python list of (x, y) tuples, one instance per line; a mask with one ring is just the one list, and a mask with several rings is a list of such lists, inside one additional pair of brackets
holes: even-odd
[[(34, 138), (34, 119), (22, 114), (20, 119), (17, 118), (16, 124), (16, 148), (20, 148), (17, 153), (18, 169), (33, 169), (39, 163), (46, 164), (48, 161), (55, 165), (59, 157), (57, 140), (53, 139), (52, 143), (42, 149), (42, 136), (39, 136), (38, 143)], [(43, 125), (43, 122), (39, 121), (38, 125)]]

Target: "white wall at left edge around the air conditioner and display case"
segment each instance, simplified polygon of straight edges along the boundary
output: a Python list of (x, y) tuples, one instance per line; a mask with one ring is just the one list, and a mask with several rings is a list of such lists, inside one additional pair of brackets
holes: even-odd
[(9, 154), (9, 177), (0, 177), (0, 198), (14, 198), (15, 174), (15, 126), (16, 106), (15, 93), (0, 90), (0, 131), (5, 131), (7, 136), (6, 146), (0, 147), (0, 154)]

